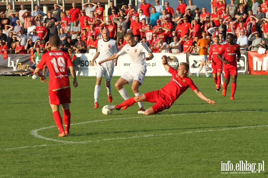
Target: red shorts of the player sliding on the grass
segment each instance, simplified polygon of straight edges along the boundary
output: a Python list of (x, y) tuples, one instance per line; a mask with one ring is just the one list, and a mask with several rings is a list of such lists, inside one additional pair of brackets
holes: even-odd
[(152, 109), (154, 110), (154, 114), (158, 112), (162, 112), (165, 109), (169, 109), (174, 103), (172, 99), (170, 99), (168, 96), (161, 93), (161, 91), (159, 90), (144, 93), (144, 96), (147, 102), (155, 103), (152, 106)]

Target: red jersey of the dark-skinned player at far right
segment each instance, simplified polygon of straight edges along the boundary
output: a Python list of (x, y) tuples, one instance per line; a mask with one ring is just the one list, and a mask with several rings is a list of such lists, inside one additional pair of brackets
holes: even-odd
[(224, 59), (228, 61), (228, 64), (223, 64), (223, 67), (227, 68), (237, 66), (236, 54), (240, 54), (240, 46), (236, 43), (233, 43), (233, 46), (226, 43), (222, 45), (222, 50), (219, 54), (223, 54)]

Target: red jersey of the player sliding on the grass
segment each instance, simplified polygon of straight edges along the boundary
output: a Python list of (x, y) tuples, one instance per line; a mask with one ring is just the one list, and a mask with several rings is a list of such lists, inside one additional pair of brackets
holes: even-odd
[(160, 89), (160, 91), (166, 96), (169, 96), (172, 101), (176, 101), (176, 99), (179, 98), (179, 96), (183, 94), (183, 92), (185, 92), (189, 87), (192, 90), (197, 89), (192, 79), (187, 76), (183, 78), (178, 76), (177, 70), (171, 66), (169, 67), (169, 72), (172, 74), (172, 78), (170, 82)]

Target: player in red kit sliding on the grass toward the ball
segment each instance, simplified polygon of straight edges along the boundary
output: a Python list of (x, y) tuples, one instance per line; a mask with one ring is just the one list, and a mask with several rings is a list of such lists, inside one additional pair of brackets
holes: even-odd
[(188, 63), (180, 63), (178, 70), (176, 70), (168, 64), (166, 55), (163, 55), (162, 64), (166, 70), (172, 74), (170, 82), (167, 83), (163, 88), (129, 98), (118, 105), (108, 105), (107, 108), (120, 110), (126, 105), (134, 104), (135, 102), (140, 101), (147, 101), (155, 104), (152, 107), (146, 109), (144, 115), (156, 114), (165, 109), (169, 109), (174, 101), (176, 101), (177, 98), (179, 98), (179, 96), (183, 94), (183, 92), (185, 92), (188, 88), (191, 88), (191, 90), (193, 90), (197, 96), (207, 101), (209, 104), (215, 104), (215, 101), (211, 101), (211, 99), (205, 97), (205, 95), (195, 86), (191, 78), (187, 76), (189, 70)]

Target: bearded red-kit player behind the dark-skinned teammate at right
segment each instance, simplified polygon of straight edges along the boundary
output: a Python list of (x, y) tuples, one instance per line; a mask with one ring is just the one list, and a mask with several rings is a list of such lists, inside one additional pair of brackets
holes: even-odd
[[(221, 88), (221, 74), (222, 74), (222, 61), (219, 60), (217, 54), (222, 50), (222, 45), (219, 44), (219, 35), (215, 35), (214, 44), (210, 46), (208, 54), (208, 64), (211, 64), (211, 71), (213, 74), (214, 82), (216, 83), (216, 91)], [(211, 61), (212, 56), (212, 61)]]

